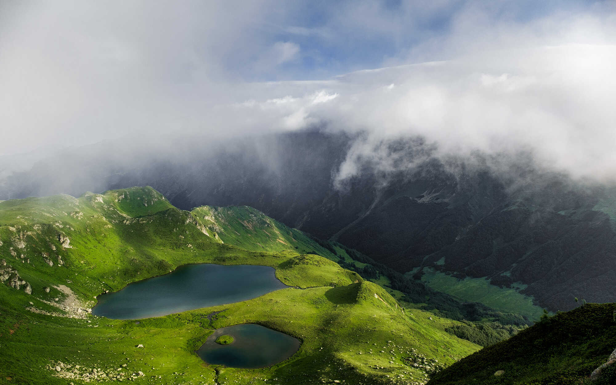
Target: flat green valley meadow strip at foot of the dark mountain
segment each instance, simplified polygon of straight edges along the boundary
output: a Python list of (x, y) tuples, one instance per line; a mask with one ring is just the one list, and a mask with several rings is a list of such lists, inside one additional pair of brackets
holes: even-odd
[(421, 280), (431, 288), (444, 291), (462, 301), (481, 302), (493, 309), (525, 315), (537, 321), (543, 309), (533, 304), (533, 298), (519, 293), (515, 288), (499, 288), (490, 284), (487, 278), (466, 277), (460, 280), (444, 272), (424, 268)]

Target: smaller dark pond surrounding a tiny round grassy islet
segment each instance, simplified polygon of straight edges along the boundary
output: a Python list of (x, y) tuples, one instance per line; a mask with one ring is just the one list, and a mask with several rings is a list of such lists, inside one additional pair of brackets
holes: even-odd
[[(217, 344), (216, 338), (222, 335), (232, 336), (232, 344)], [(299, 339), (280, 331), (254, 323), (242, 323), (214, 331), (197, 354), (210, 365), (264, 368), (291, 357), (298, 351), (300, 343)]]

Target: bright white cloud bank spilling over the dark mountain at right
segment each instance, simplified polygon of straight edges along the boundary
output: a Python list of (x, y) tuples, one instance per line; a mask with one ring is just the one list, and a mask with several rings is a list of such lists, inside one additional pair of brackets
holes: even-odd
[[(358, 161), (403, 167), (387, 142), (423, 137), (441, 156), (530, 153), (572, 177), (616, 176), (616, 47), (582, 44), (483, 52), (341, 76), (315, 91), (237, 105), (280, 129), (363, 131), (341, 178)], [(321, 88), (322, 87), (322, 88)]]

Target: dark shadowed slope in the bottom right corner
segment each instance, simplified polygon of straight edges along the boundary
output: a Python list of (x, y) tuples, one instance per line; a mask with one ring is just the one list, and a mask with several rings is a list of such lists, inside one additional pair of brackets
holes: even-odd
[(616, 304), (585, 304), (544, 317), (512, 338), (437, 373), (429, 385), (569, 385), (616, 383), (616, 365), (590, 374), (616, 347)]

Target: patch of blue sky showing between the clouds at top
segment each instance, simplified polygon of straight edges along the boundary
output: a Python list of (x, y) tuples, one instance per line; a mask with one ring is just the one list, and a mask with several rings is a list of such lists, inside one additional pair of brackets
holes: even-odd
[[(293, 58), (268, 71), (254, 71), (245, 60), (227, 68), (248, 80), (319, 79), (385, 65), (450, 59), (447, 52), (414, 52), (431, 39), (455, 33), (465, 15), (481, 14), (476, 33), (502, 23), (524, 25), (553, 14), (593, 9), (595, 1), (309, 1), (272, 5), (254, 25), (265, 45), (294, 44)], [(600, 4), (601, 2), (599, 2)], [(281, 6), (280, 8), (278, 6)]]

